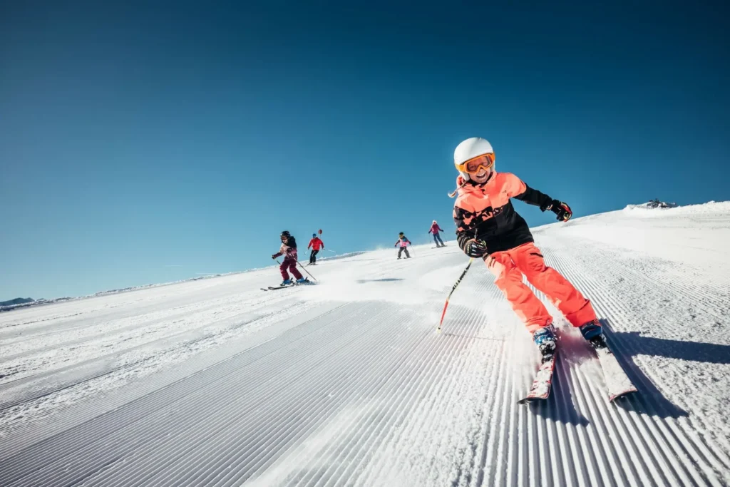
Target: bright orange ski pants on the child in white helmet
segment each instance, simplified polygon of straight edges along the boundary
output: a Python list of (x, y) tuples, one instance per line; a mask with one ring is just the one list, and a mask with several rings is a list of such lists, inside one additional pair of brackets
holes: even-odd
[(556, 305), (573, 326), (596, 319), (591, 302), (560, 272), (545, 265), (545, 259), (534, 243), (529, 242), (504, 252), (490, 254), (485, 263), (496, 277), (494, 283), (512, 304), (512, 310), (525, 323), (528, 331), (533, 332), (541, 326), (548, 326), (553, 318), (545, 305), (522, 282), (523, 274), (535, 288), (548, 296), (550, 302)]

